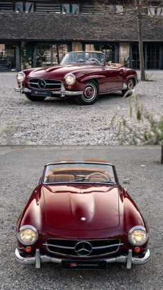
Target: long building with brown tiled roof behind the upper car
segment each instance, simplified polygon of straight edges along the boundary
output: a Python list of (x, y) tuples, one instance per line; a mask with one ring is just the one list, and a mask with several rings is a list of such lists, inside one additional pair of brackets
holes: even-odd
[[(123, 1), (116, 3), (118, 16), (91, 0), (0, 0), (0, 71), (55, 65), (70, 50), (102, 50), (138, 69), (136, 19), (122, 28)], [(163, 18), (161, 8), (149, 12)], [(145, 68), (163, 69), (163, 26), (153, 17), (144, 20), (143, 40)]]

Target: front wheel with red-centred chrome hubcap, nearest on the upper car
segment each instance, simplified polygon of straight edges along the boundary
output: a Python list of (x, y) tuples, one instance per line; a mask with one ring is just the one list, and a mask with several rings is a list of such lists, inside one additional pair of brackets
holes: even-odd
[(99, 86), (97, 81), (92, 80), (86, 83), (86, 88), (83, 95), (77, 98), (77, 104), (79, 105), (92, 105), (97, 101), (99, 97)]

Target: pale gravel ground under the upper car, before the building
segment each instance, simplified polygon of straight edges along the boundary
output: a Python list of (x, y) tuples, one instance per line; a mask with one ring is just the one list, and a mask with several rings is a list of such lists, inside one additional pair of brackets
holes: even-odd
[[(163, 113), (163, 71), (148, 71), (153, 81), (141, 81), (135, 92), (155, 117)], [(46, 99), (31, 102), (15, 93), (16, 72), (0, 73), (1, 145), (117, 145), (111, 119), (121, 108), (128, 116), (128, 98), (120, 93), (99, 97), (92, 106), (79, 106), (73, 100)], [(128, 124), (146, 131), (147, 124), (129, 119)]]

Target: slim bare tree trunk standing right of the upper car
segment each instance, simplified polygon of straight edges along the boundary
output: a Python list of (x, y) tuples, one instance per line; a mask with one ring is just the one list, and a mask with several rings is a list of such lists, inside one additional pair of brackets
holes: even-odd
[(145, 81), (145, 69), (144, 69), (144, 53), (143, 53), (143, 40), (142, 40), (142, 14), (138, 12), (137, 16), (137, 31), (139, 39), (139, 55), (140, 55), (140, 80)]

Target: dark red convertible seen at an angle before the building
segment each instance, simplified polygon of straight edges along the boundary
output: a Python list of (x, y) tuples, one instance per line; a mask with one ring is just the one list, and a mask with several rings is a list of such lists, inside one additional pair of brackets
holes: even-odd
[(59, 66), (30, 68), (17, 74), (16, 92), (30, 101), (46, 97), (75, 97), (78, 104), (91, 105), (99, 97), (132, 91), (137, 72), (121, 64), (106, 64), (106, 55), (98, 51), (68, 52)]

